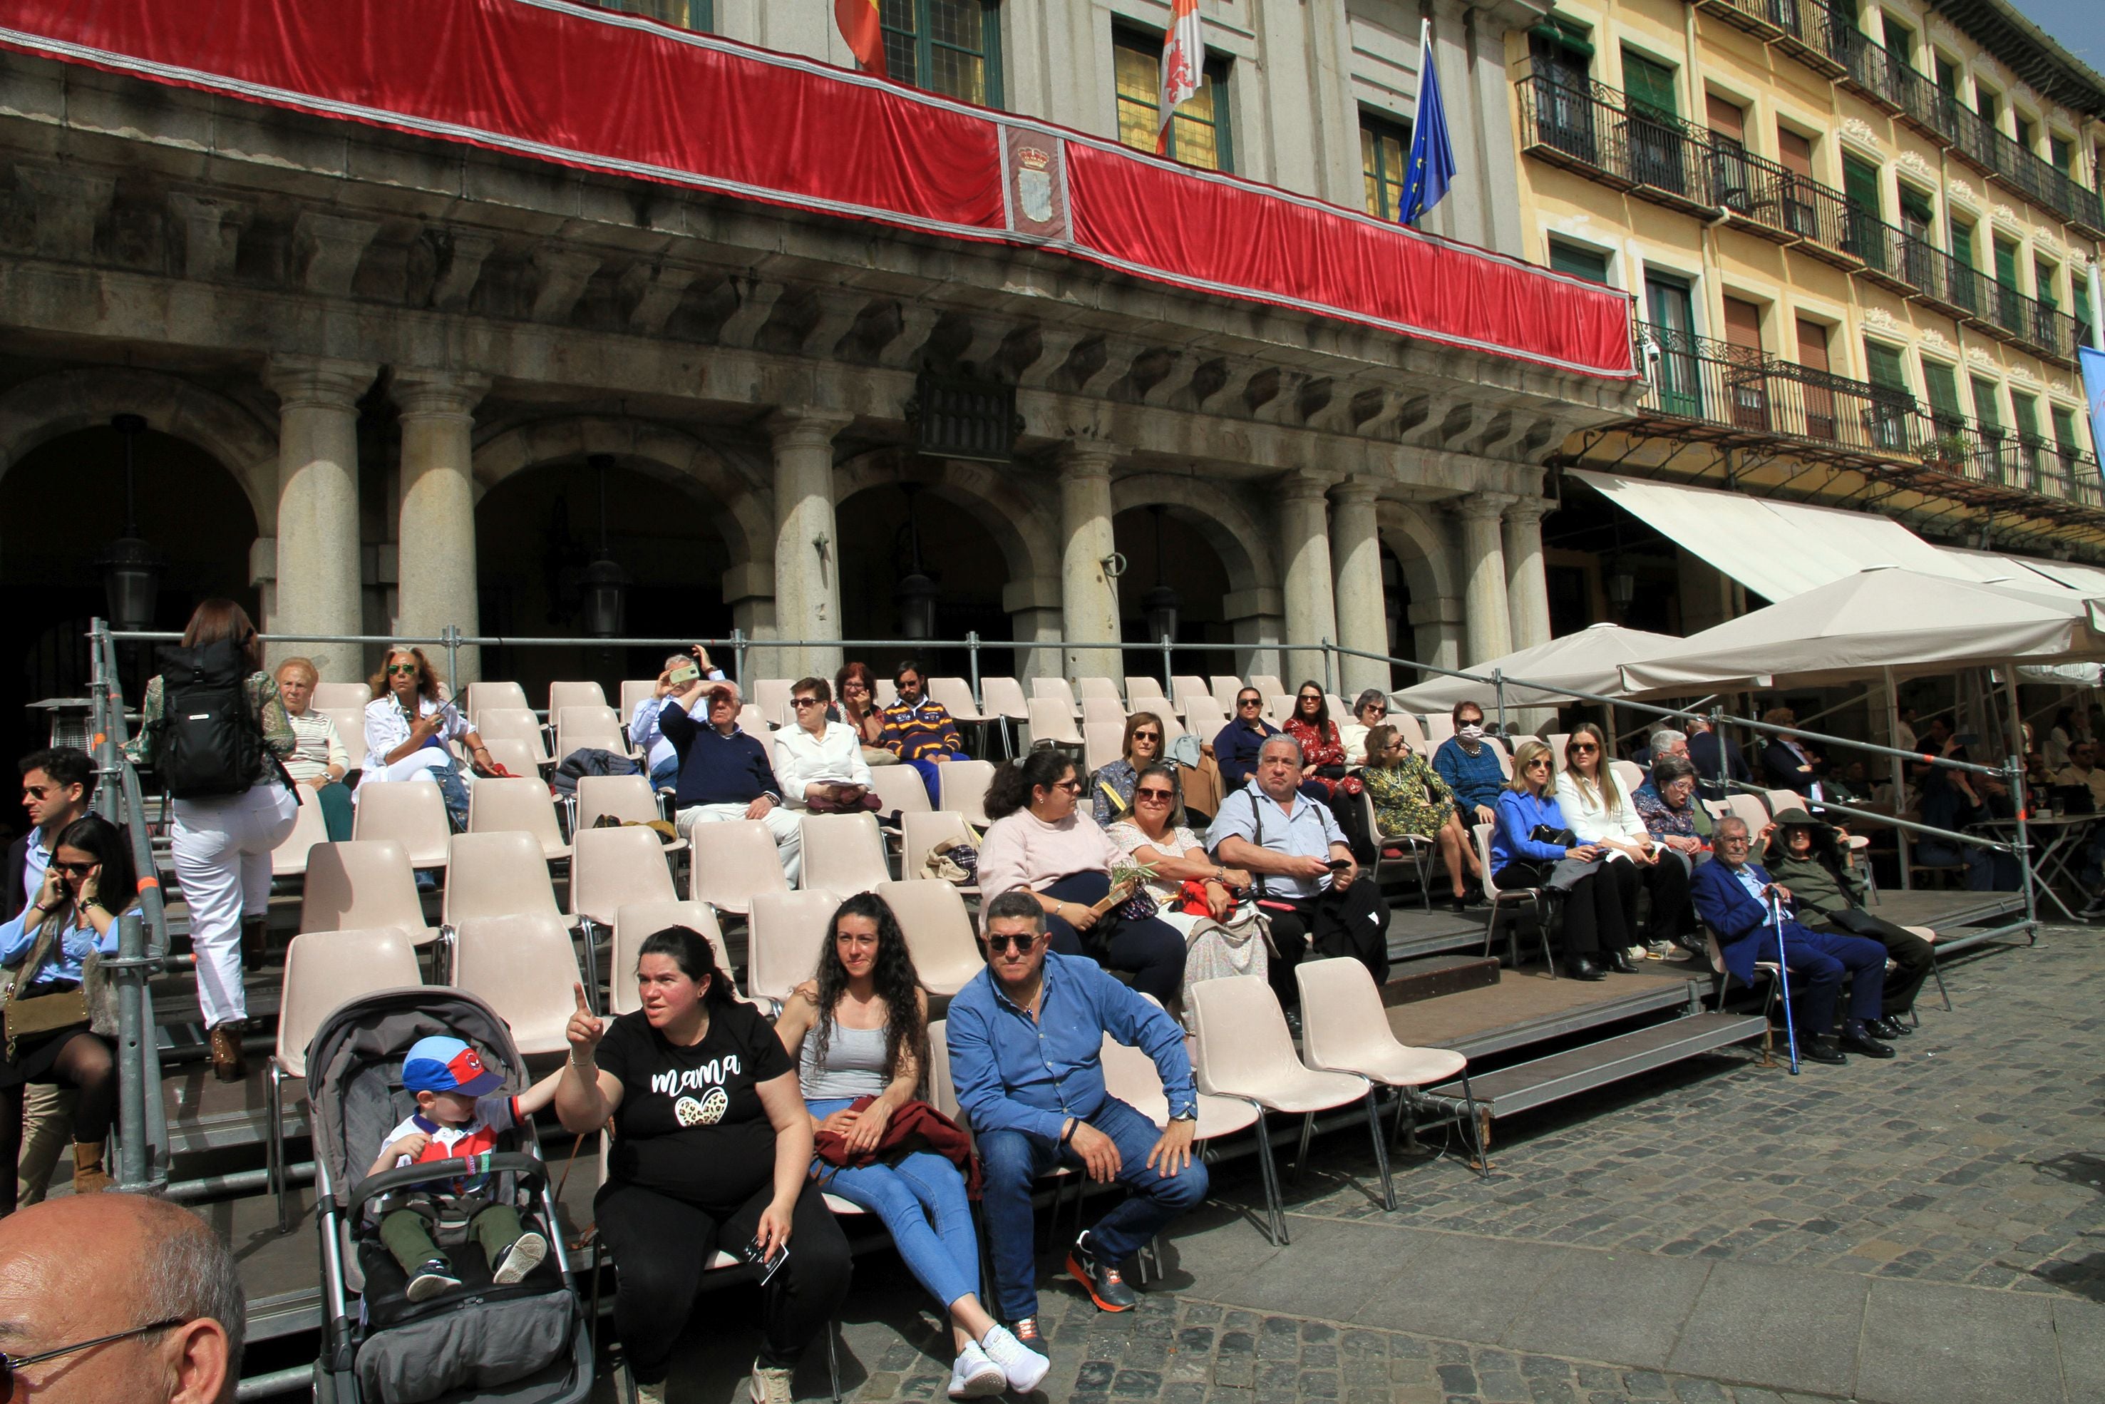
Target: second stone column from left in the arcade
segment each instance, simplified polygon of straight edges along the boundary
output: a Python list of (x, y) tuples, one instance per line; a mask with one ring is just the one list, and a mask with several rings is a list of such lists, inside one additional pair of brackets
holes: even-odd
[[(396, 631), (436, 638), (448, 623), (482, 629), (476, 602), (474, 408), (490, 387), (465, 370), (396, 370), (402, 410), (400, 602)], [(442, 650), (425, 646), (444, 669)], [(463, 648), (455, 688), (482, 676), (482, 650)]]

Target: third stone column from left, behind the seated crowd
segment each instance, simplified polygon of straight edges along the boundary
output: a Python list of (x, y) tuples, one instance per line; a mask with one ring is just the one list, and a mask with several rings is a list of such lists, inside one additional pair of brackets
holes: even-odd
[[(834, 524), (834, 436), (846, 415), (777, 410), (775, 444), (775, 631), (840, 638), (840, 533)], [(783, 648), (785, 678), (840, 671), (840, 648)]]

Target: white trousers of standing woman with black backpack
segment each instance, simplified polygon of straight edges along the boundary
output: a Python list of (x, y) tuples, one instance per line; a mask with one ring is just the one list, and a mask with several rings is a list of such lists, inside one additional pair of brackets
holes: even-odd
[(204, 1027), (248, 1017), (242, 989), (242, 914), (269, 911), (269, 850), (299, 819), (299, 800), (278, 781), (238, 796), (175, 802), (175, 878), (189, 907)]

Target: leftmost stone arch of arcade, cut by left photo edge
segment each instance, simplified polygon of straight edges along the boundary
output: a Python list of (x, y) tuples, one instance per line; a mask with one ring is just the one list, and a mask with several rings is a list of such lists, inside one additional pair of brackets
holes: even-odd
[(242, 404), (160, 370), (55, 370), (6, 389), (0, 394), (0, 476), (40, 444), (76, 429), (101, 429), (114, 415), (139, 415), (149, 429), (219, 459), (246, 493), (259, 530), (276, 535), (278, 436)]

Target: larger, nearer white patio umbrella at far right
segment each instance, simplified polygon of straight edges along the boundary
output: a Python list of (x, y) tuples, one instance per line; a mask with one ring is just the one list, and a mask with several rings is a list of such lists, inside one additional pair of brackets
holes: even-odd
[(1728, 619), (1661, 657), (1625, 663), (1627, 695), (1749, 686), (1825, 686), (2012, 661), (2105, 657), (2082, 596), (1869, 566), (1852, 577)]

